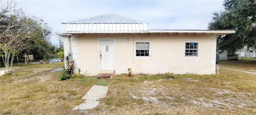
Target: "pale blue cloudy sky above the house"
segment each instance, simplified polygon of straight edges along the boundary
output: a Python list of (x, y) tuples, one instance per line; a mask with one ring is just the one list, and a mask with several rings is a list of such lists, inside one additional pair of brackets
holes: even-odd
[(208, 30), (212, 13), (224, 10), (223, 0), (18, 0), (17, 5), (64, 32), (62, 22), (113, 13), (148, 23), (148, 30)]

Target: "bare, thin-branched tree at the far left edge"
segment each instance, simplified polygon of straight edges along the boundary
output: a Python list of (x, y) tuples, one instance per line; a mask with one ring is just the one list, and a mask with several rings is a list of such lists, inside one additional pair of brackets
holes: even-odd
[(14, 1), (0, 1), (0, 54), (4, 60), (6, 73), (11, 73), (14, 56), (24, 48), (24, 40), (29, 27), (22, 8)]

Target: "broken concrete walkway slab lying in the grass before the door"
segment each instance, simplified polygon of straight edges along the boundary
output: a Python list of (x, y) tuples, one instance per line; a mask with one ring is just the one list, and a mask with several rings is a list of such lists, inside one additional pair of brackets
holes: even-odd
[(108, 86), (93, 85), (92, 88), (84, 95), (82, 99), (86, 99), (85, 103), (80, 104), (79, 106), (74, 107), (72, 110), (80, 109), (92, 109), (97, 107), (100, 104), (100, 101), (97, 99), (106, 97), (108, 93)]

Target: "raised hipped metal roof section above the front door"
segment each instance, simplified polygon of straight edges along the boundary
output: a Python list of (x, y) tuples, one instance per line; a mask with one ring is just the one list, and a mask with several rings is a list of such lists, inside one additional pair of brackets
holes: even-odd
[(148, 31), (148, 24), (117, 14), (104, 14), (62, 23), (66, 33)]

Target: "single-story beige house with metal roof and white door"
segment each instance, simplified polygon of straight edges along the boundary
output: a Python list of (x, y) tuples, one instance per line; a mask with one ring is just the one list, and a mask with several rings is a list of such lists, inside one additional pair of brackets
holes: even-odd
[(148, 24), (117, 14), (62, 23), (64, 54), (88, 75), (215, 74), (216, 36), (235, 30), (148, 30)]

